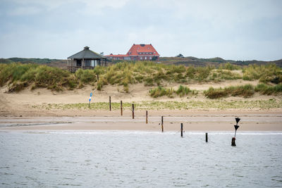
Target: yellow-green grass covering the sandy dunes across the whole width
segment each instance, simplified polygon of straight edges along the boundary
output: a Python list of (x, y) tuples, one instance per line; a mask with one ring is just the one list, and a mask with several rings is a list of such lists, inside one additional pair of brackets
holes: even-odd
[[(99, 79), (98, 79), (99, 77)], [(152, 61), (120, 62), (108, 67), (97, 66), (93, 70), (67, 70), (51, 68), (46, 65), (8, 63), (0, 64), (0, 86), (8, 85), (10, 92), (19, 92), (25, 87), (32, 89), (44, 87), (61, 91), (75, 89), (90, 84), (102, 90), (104, 85), (123, 86), (123, 92), (129, 92), (130, 84), (143, 83), (154, 87), (149, 90), (152, 97), (186, 96), (197, 94), (182, 84), (195, 82), (221, 82), (224, 80), (259, 80), (264, 84), (226, 87), (204, 91), (204, 96), (217, 99), (224, 96), (250, 97), (255, 92), (260, 94), (281, 93), (282, 70), (276, 65), (249, 65), (240, 67), (231, 63), (221, 64), (218, 68), (207, 65), (194, 67), (184, 65), (164, 65)], [(164, 85), (178, 83), (179, 88), (164, 88)], [(272, 84), (272, 85), (269, 85)], [(274, 85), (273, 85), (274, 84)]]

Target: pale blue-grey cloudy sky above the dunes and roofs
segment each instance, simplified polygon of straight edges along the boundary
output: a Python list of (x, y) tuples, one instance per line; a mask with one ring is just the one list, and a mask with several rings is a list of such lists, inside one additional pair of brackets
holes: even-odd
[(282, 58), (280, 0), (0, 0), (0, 58), (66, 59), (84, 46), (126, 54)]

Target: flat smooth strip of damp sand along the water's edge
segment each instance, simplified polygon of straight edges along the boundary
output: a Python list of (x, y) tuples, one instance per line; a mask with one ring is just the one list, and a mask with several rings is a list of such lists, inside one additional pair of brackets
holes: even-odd
[[(89, 116), (42, 116), (42, 117), (0, 117), (0, 131), (90, 131), (90, 130), (140, 130), (161, 131), (161, 115), (152, 112), (145, 122), (145, 115), (106, 113)], [(179, 131), (183, 123), (186, 131), (234, 131), (235, 117), (241, 118), (240, 131), (282, 131), (280, 113), (175, 113), (164, 115), (164, 131)]]

